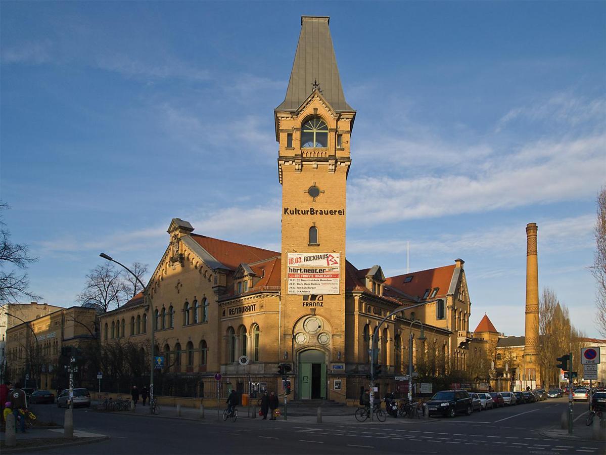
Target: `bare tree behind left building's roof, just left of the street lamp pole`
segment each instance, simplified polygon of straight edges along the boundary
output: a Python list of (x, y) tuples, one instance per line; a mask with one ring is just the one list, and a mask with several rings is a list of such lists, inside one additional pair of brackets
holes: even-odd
[(105, 312), (112, 307), (118, 308), (128, 299), (122, 270), (116, 269), (111, 262), (93, 268), (86, 279), (84, 290), (76, 297), (83, 307), (98, 307)]

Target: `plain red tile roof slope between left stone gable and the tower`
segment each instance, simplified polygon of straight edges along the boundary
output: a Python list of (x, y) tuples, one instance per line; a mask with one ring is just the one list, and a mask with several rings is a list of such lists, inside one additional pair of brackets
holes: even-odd
[(277, 251), (264, 250), (263, 248), (251, 247), (250, 245), (236, 244), (199, 234), (192, 233), (190, 235), (211, 256), (231, 270), (236, 270), (242, 262), (250, 264), (251, 262), (258, 262), (280, 255)]

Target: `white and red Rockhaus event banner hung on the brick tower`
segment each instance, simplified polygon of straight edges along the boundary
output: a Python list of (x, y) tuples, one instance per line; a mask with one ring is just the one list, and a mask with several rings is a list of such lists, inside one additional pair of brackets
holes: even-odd
[(339, 253), (288, 253), (288, 294), (338, 294)]

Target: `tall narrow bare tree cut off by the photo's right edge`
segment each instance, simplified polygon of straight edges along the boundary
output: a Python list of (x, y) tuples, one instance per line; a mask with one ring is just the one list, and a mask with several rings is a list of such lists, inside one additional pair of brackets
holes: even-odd
[(606, 337), (606, 187), (602, 187), (598, 194), (598, 219), (595, 234), (596, 252), (591, 273), (598, 282), (596, 325), (599, 333)]

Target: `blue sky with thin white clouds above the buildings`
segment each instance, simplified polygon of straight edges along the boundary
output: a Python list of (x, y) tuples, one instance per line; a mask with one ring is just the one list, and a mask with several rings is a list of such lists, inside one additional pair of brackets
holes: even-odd
[(153, 270), (172, 218), (280, 249), (273, 109), (301, 15), (330, 16), (357, 110), (347, 259), (387, 276), (461, 257), (470, 328), (524, 334), (539, 287), (587, 336), (606, 184), (606, 2), (0, 4), (0, 198), (69, 307), (101, 251)]

